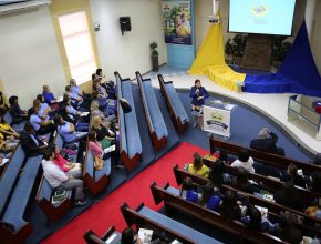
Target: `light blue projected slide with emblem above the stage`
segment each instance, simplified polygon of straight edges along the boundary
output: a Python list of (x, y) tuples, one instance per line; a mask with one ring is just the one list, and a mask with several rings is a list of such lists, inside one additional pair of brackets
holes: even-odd
[(291, 35), (296, 0), (230, 0), (229, 31)]

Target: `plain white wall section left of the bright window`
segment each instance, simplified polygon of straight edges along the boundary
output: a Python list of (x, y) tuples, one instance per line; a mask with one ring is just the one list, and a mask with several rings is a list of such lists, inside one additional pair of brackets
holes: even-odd
[(18, 95), (24, 109), (44, 83), (62, 93), (65, 78), (46, 7), (0, 16), (0, 80), (6, 95)]

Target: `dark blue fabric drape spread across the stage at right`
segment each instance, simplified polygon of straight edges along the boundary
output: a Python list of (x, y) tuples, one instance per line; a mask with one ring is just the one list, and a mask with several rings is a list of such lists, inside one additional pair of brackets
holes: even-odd
[(321, 98), (321, 78), (311, 52), (306, 21), (279, 71), (266, 75), (247, 74), (244, 91), (298, 93)]

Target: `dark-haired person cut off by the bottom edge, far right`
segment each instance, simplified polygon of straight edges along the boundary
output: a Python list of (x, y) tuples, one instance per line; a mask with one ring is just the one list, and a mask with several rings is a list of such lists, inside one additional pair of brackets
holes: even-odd
[(287, 243), (299, 244), (302, 242), (302, 233), (298, 230), (291, 213), (281, 213), (280, 237)]

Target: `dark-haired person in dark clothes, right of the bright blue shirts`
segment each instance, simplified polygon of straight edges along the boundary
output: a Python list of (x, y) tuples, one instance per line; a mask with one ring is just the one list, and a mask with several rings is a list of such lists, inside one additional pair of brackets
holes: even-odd
[(232, 191), (226, 191), (219, 204), (220, 216), (227, 220), (240, 220), (241, 210), (237, 204), (237, 196)]

